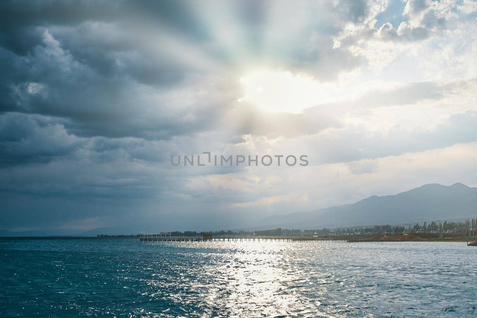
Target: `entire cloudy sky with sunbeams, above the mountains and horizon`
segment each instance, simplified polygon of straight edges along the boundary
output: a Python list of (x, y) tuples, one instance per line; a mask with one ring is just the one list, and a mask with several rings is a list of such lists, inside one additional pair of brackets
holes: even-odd
[[(0, 228), (246, 227), (477, 186), (477, 1), (1, 1)], [(173, 166), (301, 155), (306, 166)]]

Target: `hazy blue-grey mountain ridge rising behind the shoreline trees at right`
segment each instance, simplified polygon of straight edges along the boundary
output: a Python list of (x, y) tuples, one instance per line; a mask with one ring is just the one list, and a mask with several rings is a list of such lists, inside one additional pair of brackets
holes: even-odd
[(462, 183), (437, 183), (395, 195), (372, 196), (311, 212), (295, 212), (263, 219), (260, 227), (322, 228), (374, 224), (404, 224), (477, 217), (477, 188)]

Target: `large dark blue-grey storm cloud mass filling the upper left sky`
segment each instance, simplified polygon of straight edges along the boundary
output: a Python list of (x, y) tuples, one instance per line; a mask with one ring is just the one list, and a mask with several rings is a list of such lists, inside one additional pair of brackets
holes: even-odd
[(207, 35), (181, 2), (1, 6), (0, 111), (69, 118), (76, 135), (164, 139), (208, 129), (237, 98), (190, 50)]

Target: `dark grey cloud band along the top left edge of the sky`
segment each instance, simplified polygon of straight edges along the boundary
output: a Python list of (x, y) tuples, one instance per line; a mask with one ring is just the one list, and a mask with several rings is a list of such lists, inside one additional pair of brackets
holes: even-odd
[[(16, 30), (52, 25), (78, 25), (84, 21), (105, 21), (146, 27), (167, 26), (193, 41), (206, 40), (207, 32), (184, 1), (2, 1), (0, 30), (4, 46), (26, 53), (35, 42), (18, 37)], [(38, 42), (37, 42), (38, 43)]]

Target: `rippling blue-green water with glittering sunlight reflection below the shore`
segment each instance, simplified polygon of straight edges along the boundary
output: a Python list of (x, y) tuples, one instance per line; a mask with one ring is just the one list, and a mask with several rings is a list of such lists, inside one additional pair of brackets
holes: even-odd
[(1, 317), (471, 317), (465, 243), (0, 239)]

